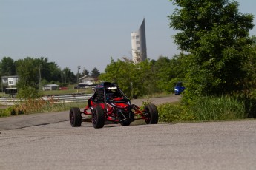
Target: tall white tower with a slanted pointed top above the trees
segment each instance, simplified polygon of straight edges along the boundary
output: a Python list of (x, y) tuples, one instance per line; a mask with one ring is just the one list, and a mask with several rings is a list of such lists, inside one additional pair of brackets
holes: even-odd
[(131, 33), (131, 51), (134, 63), (147, 59), (147, 46), (145, 41), (145, 18), (137, 32)]

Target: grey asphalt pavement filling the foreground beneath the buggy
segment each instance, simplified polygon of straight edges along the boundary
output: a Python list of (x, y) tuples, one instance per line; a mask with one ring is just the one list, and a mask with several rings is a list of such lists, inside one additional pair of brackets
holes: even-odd
[[(51, 122), (31, 123), (48, 115)], [(62, 116), (0, 118), (0, 169), (256, 169), (255, 120), (94, 129)]]

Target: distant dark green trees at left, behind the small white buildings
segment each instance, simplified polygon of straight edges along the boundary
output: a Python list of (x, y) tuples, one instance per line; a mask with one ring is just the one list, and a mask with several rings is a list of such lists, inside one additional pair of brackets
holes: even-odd
[[(67, 86), (68, 84), (76, 84), (77, 78), (84, 75), (90, 75), (97, 78), (100, 72), (96, 67), (89, 72), (84, 69), (82, 72), (72, 72), (68, 67), (61, 69), (55, 62), (48, 61), (48, 58), (32, 58), (27, 57), (14, 61), (13, 58), (4, 57), (0, 61), (0, 76), (19, 75), (17, 86), (20, 89), (31, 87), (38, 90), (39, 86), (45, 84), (59, 84)], [(2, 84), (3, 88), (6, 84)]]

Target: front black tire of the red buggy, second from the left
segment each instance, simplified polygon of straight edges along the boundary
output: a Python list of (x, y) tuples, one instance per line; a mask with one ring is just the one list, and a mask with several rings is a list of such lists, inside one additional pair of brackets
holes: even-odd
[(100, 106), (96, 106), (93, 108), (92, 119), (93, 127), (98, 129), (102, 128), (105, 124), (105, 116), (104, 111)]

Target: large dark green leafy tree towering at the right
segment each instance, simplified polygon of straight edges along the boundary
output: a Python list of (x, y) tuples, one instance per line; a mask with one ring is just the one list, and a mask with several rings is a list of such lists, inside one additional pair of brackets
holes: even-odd
[(188, 95), (225, 95), (244, 88), (244, 67), (252, 39), (253, 16), (228, 0), (169, 0), (177, 8), (170, 27), (174, 42), (188, 52)]

